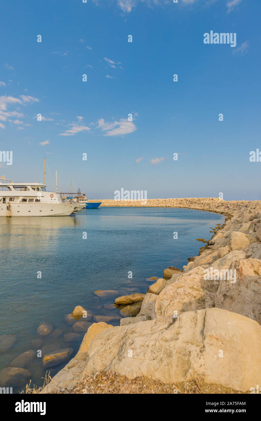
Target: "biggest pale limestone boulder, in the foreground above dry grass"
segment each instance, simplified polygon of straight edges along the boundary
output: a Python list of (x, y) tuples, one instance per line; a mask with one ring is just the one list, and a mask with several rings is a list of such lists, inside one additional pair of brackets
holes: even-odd
[[(261, 326), (221, 309), (185, 312), (175, 319), (118, 326), (93, 338), (86, 373), (143, 373), (164, 383), (202, 376), (206, 383), (246, 392), (260, 382)], [(222, 356), (223, 354), (223, 356)]]

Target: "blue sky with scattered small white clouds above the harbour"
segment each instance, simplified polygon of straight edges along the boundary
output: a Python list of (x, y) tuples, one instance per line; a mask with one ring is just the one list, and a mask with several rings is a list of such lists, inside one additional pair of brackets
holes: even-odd
[[(54, 184), (57, 169), (90, 199), (261, 200), (260, 14), (258, 0), (2, 2), (0, 175), (43, 181), (46, 157)], [(204, 44), (211, 30), (236, 47)]]

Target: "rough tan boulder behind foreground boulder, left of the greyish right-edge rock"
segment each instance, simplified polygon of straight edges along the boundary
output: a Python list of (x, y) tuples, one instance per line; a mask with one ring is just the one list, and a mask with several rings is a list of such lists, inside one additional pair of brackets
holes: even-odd
[(204, 270), (197, 266), (164, 288), (157, 296), (153, 318), (213, 307), (218, 282), (204, 280)]

